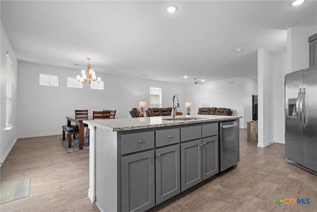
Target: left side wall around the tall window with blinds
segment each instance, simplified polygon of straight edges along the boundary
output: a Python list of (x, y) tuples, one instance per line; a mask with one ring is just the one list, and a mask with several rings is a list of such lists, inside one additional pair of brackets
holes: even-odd
[[(13, 52), (11, 43), (8, 36), (2, 26), (1, 22), (1, 77), (0, 77), (0, 158), (1, 164), (9, 154), (11, 148), (17, 140), (17, 89), (16, 89), (16, 78), (17, 78), (17, 60)], [(12, 64), (12, 125), (14, 126), (10, 130), (6, 130), (6, 51), (9, 51), (9, 57), (11, 58)]]

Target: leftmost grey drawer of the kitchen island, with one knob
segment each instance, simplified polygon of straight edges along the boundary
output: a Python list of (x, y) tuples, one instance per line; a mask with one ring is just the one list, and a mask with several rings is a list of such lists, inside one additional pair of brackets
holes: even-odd
[(121, 154), (154, 148), (154, 131), (121, 136)]

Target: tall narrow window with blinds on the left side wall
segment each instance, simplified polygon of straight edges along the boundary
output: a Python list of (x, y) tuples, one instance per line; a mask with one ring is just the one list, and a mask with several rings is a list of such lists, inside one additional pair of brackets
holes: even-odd
[(6, 54), (6, 127), (12, 126), (12, 62)]

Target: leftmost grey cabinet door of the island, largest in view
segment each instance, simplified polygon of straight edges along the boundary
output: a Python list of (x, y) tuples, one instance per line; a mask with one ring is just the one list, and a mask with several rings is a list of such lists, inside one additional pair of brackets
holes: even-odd
[(141, 212), (155, 206), (154, 165), (154, 150), (121, 158), (123, 212)]

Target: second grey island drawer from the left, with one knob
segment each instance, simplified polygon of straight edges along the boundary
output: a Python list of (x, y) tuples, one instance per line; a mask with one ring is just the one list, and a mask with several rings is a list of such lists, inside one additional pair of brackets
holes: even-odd
[(155, 131), (155, 146), (164, 146), (180, 142), (179, 128)]

